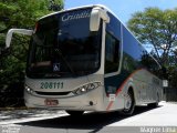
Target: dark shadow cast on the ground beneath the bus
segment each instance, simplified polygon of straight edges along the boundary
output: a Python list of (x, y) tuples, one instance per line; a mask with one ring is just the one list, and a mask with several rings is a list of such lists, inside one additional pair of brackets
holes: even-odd
[[(160, 108), (160, 106), (158, 106)], [(133, 116), (140, 113), (154, 110), (148, 106), (137, 106)], [(123, 116), (118, 112), (111, 113), (85, 113), (80, 117), (74, 116), (61, 116), (58, 119), (42, 120), (35, 122), (25, 122), (21, 125), (38, 126), (38, 127), (52, 127), (52, 129), (75, 129), (75, 130), (92, 130), (90, 133), (95, 133), (102, 130), (104, 126), (125, 120), (131, 116)]]

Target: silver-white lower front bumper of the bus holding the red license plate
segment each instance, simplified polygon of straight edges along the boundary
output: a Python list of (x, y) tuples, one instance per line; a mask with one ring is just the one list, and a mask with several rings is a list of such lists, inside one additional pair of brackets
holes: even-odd
[(66, 98), (39, 96), (24, 91), (24, 102), (28, 108), (105, 111), (103, 105), (103, 88), (97, 88), (81, 95)]

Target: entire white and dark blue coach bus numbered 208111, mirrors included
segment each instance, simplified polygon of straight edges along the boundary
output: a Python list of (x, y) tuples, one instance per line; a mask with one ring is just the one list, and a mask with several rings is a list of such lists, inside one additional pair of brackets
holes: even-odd
[(163, 83), (160, 65), (111, 10), (87, 6), (39, 19), (34, 30), (11, 29), (31, 35), (24, 101), (29, 108), (121, 111), (136, 105), (157, 106)]

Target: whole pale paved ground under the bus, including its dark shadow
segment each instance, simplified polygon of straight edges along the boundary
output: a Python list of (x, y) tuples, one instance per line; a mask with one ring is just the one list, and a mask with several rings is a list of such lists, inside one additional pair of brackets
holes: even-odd
[(133, 116), (112, 112), (73, 117), (61, 111), (34, 112), (0, 121), (0, 133), (177, 133), (175, 103), (164, 102), (156, 109), (139, 106)]

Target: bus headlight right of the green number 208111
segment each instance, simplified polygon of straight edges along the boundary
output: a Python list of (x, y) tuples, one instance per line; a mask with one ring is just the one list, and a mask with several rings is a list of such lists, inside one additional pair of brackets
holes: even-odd
[(101, 82), (87, 83), (87, 84), (84, 84), (84, 85), (80, 86), (79, 89), (74, 90), (73, 93), (74, 94), (86, 93), (86, 92), (94, 90), (98, 86), (101, 86)]

